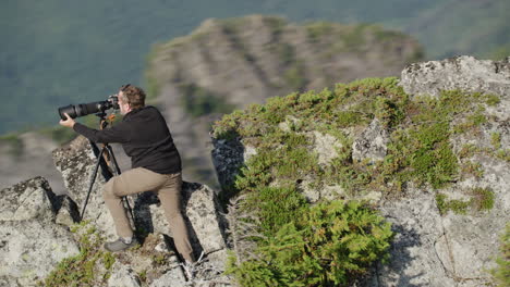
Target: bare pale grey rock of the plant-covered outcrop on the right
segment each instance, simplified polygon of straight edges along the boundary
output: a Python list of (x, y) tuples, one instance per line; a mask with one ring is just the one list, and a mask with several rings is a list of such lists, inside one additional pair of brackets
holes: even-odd
[[(485, 110), (487, 122), (481, 125), (476, 137), (453, 135), (451, 145), (460, 150), (476, 144), (481, 150), (494, 145), (510, 147), (510, 62), (479, 61), (460, 57), (444, 61), (416, 63), (402, 72), (400, 85), (411, 93), (438, 96), (440, 90), (461, 89), (498, 95), (500, 102)], [(494, 144), (494, 135), (499, 144)], [(234, 182), (239, 166), (247, 160), (250, 148), (244, 139), (216, 139), (212, 141), (214, 162), (219, 182), (228, 187)], [(366, 144), (366, 145), (365, 145)], [(360, 133), (352, 146), (353, 160), (382, 160), (391, 144), (386, 130), (373, 122)], [(254, 151), (256, 153), (256, 150)], [(490, 284), (486, 272), (495, 267), (499, 235), (510, 221), (510, 162), (494, 154), (476, 153), (469, 158), (479, 164), (482, 175), (461, 177), (440, 190), (449, 198), (462, 198), (465, 190), (488, 188), (494, 192), (490, 210), (456, 214), (441, 212), (436, 190), (429, 187), (406, 187), (400, 199), (376, 197), (381, 214), (392, 223), (397, 234), (387, 265), (378, 265), (364, 286), (462, 286)], [(238, 169), (235, 169), (238, 167)], [(326, 187), (327, 188), (327, 187)], [(306, 190), (305, 190), (306, 191)], [(307, 194), (311, 191), (307, 190)], [(312, 202), (317, 196), (306, 195)], [(374, 202), (374, 200), (372, 200)]]

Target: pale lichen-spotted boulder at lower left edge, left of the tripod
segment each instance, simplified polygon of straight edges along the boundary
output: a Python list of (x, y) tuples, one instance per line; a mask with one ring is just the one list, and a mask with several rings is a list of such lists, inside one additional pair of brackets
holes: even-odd
[(0, 286), (35, 286), (80, 252), (68, 228), (54, 222), (60, 203), (46, 179), (2, 189), (0, 198)]

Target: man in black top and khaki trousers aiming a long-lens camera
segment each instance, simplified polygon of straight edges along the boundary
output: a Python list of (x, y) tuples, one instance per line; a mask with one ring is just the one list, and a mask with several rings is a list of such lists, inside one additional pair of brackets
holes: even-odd
[(117, 96), (124, 117), (110, 128), (88, 128), (74, 122), (69, 114), (65, 114), (66, 120), (60, 121), (61, 125), (73, 128), (94, 142), (122, 144), (131, 158), (132, 170), (112, 177), (104, 188), (102, 196), (119, 236), (116, 241), (105, 244), (105, 248), (121, 251), (138, 244), (121, 199), (151, 190), (161, 201), (179, 253), (187, 262), (194, 262), (190, 235), (181, 211), (181, 158), (167, 123), (156, 108), (145, 105), (145, 92), (141, 88), (124, 85)]

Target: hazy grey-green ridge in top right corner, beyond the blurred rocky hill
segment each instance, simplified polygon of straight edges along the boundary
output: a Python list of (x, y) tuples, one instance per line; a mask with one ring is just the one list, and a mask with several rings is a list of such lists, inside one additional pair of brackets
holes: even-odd
[(440, 1), (399, 26), (420, 39), (427, 58), (473, 54), (499, 60), (510, 55), (509, 11), (506, 0)]

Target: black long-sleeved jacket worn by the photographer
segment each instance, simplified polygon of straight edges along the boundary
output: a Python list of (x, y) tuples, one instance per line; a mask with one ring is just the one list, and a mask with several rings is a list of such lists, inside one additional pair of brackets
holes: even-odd
[(146, 105), (124, 115), (122, 122), (97, 130), (76, 123), (76, 133), (94, 142), (122, 144), (132, 167), (145, 167), (159, 174), (181, 172), (181, 157), (161, 113)]

